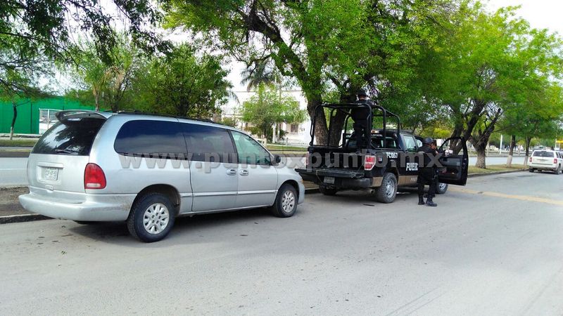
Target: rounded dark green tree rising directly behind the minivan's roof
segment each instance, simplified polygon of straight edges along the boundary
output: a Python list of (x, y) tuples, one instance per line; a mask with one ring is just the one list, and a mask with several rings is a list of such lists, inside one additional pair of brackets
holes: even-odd
[(137, 70), (135, 107), (148, 112), (210, 118), (232, 96), (222, 56), (203, 53), (188, 44), (176, 46), (165, 56), (153, 58)]

